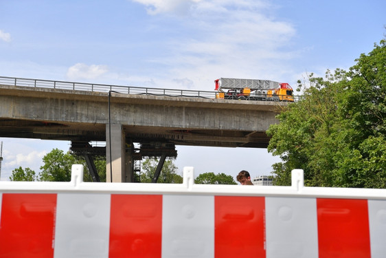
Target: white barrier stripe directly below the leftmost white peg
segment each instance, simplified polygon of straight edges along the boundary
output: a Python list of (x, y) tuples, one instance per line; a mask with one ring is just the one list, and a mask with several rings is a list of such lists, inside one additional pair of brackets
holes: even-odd
[(55, 258), (109, 257), (110, 196), (58, 194)]

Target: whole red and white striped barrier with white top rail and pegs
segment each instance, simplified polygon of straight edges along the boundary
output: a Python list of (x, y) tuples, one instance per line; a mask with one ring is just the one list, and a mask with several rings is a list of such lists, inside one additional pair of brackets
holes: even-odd
[(0, 257), (386, 257), (386, 190), (0, 182)]

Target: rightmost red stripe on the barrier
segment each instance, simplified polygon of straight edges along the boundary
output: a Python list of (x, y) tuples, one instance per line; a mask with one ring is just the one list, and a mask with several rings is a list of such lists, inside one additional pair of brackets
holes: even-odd
[(319, 258), (371, 257), (367, 200), (317, 199)]

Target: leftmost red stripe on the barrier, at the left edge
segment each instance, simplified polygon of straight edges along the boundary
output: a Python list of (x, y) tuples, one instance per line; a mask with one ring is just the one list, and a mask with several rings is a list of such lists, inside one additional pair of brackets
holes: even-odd
[(56, 194), (3, 193), (0, 257), (54, 257)]

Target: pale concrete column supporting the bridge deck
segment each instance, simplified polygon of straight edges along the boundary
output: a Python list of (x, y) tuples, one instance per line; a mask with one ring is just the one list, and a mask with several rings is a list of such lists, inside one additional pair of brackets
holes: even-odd
[(125, 133), (122, 125), (106, 125), (106, 182), (126, 182), (125, 160)]

